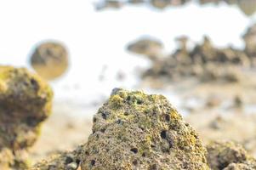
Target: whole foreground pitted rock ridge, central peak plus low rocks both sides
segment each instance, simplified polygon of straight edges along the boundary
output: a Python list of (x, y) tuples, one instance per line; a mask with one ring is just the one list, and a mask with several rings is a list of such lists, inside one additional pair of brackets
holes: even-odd
[(206, 150), (162, 95), (115, 88), (93, 122), (86, 144), (50, 156), (31, 170), (256, 168), (256, 160), (239, 144), (212, 142)]

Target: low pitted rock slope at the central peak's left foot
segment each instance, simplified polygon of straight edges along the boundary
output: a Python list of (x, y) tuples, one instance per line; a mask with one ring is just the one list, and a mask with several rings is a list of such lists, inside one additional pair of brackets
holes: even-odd
[(77, 150), (66, 151), (49, 156), (48, 159), (38, 162), (30, 170), (77, 170), (80, 164), (80, 153), (82, 148)]

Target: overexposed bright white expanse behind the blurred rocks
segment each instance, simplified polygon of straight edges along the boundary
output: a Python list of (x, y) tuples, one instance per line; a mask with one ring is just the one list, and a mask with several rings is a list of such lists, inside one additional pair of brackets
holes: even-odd
[[(158, 37), (167, 51), (174, 50), (174, 37), (179, 35), (198, 42), (206, 34), (218, 46), (242, 47), (241, 35), (249, 23), (238, 8), (225, 5), (188, 4), (164, 11), (129, 6), (97, 12), (89, 0), (0, 0), (0, 63), (28, 66), (35, 43), (62, 41), (69, 48), (71, 67), (53, 83), (55, 96), (88, 99), (118, 86), (133, 88), (134, 67), (148, 64), (125, 51), (137, 37)], [(105, 82), (98, 81), (102, 65), (108, 65)], [(125, 82), (115, 81), (120, 70), (128, 73)]]

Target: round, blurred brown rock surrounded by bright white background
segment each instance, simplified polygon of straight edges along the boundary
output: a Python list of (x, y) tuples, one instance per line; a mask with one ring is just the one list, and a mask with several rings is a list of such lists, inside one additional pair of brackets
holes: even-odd
[(43, 42), (31, 55), (31, 65), (48, 80), (60, 77), (68, 67), (68, 53), (60, 42)]

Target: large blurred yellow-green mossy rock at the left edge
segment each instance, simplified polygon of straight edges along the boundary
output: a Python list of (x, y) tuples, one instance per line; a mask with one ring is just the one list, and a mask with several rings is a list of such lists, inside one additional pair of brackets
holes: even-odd
[(0, 149), (34, 144), (41, 122), (50, 114), (52, 96), (40, 77), (23, 68), (0, 66)]

